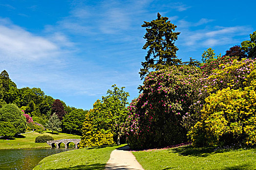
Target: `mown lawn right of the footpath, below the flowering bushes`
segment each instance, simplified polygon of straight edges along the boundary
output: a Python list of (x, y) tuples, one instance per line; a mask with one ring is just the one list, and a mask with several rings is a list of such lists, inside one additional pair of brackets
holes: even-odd
[(145, 170), (256, 170), (256, 149), (215, 153), (184, 146), (132, 153)]

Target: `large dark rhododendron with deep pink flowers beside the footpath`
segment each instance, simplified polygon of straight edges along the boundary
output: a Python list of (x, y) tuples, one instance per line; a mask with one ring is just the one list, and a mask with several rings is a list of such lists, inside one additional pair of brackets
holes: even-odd
[(149, 73), (143, 93), (128, 107), (125, 129), (129, 146), (141, 149), (187, 141), (182, 118), (195, 100), (195, 82), (201, 76), (201, 69), (192, 66)]

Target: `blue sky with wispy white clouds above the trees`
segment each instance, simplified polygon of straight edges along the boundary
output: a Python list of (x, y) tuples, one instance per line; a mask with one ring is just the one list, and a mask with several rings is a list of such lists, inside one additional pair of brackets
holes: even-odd
[(256, 31), (255, 0), (0, 0), (0, 71), (21, 87), (90, 109), (116, 84), (139, 94), (143, 21), (159, 12), (181, 32), (182, 61), (225, 51)]

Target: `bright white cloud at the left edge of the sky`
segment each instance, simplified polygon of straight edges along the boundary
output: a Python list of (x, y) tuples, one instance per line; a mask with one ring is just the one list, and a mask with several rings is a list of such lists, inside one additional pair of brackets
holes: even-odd
[(0, 24), (0, 55), (11, 59), (35, 60), (55, 56), (60, 47), (50, 40), (29, 33), (6, 19)]

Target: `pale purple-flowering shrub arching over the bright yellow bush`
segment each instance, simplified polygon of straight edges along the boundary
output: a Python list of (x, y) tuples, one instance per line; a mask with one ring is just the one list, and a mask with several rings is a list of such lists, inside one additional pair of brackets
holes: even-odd
[[(189, 106), (189, 114), (183, 116), (183, 124), (187, 130), (195, 125), (201, 119), (200, 110), (203, 108), (205, 99), (218, 90), (230, 87), (232, 89), (239, 89), (245, 87), (244, 82), (246, 76), (251, 72), (255, 60), (242, 59), (241, 61), (224, 60), (226, 56), (218, 58), (217, 60), (228, 61), (225, 64), (220, 64), (212, 72), (203, 72), (204, 74), (196, 82), (197, 87), (194, 91), (194, 100)], [(216, 60), (216, 61), (217, 61)], [(217, 63), (222, 63), (222, 61)]]

